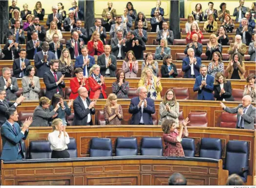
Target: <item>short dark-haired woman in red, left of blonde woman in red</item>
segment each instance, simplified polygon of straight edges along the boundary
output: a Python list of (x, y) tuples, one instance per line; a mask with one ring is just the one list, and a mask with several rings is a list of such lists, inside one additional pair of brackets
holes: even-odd
[(84, 78), (84, 71), (82, 68), (75, 69), (75, 75), (73, 79), (70, 80), (70, 89), (71, 94), (69, 99), (76, 99), (78, 97), (78, 89), (80, 87), (85, 87), (87, 91), (89, 91), (89, 83), (88, 79)]

